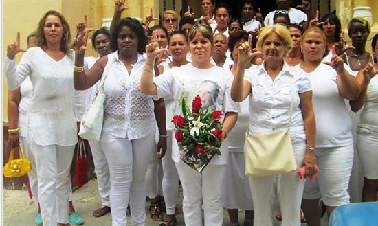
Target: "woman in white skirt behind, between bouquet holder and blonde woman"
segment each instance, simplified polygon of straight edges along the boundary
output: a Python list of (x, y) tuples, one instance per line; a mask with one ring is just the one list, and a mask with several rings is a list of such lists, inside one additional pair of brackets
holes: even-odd
[[(238, 47), (248, 41), (249, 33), (240, 30), (233, 32), (229, 37), (229, 49), (234, 64), (230, 69), (234, 74), (238, 64)], [(252, 47), (256, 47), (256, 37), (252, 36)], [(251, 67), (247, 63), (245, 68)], [(225, 168), (223, 181), (223, 206), (227, 208), (230, 218), (230, 226), (238, 226), (238, 209), (245, 210), (244, 226), (251, 226), (254, 222), (254, 203), (252, 201), (251, 188), (248, 177), (245, 176), (244, 143), (245, 133), (249, 124), (249, 102), (247, 99), (240, 103), (241, 111), (238, 113), (238, 121), (227, 136), (228, 140), (228, 163)]]

